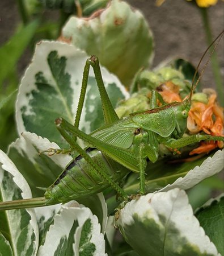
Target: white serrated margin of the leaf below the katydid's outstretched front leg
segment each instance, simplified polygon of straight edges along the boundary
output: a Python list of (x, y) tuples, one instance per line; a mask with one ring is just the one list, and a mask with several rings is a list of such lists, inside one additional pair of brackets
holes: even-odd
[(189, 189), (200, 183), (207, 177), (218, 174), (222, 171), (224, 163), (224, 150), (218, 150), (211, 157), (209, 156), (200, 166), (196, 166), (190, 170), (184, 177), (179, 177), (172, 184), (166, 185), (166, 187), (159, 189), (158, 192), (169, 191), (173, 188)]

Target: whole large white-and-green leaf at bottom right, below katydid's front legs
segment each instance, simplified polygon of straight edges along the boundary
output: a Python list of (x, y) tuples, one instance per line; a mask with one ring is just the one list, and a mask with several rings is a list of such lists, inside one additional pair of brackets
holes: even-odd
[(180, 189), (149, 193), (120, 210), (117, 225), (140, 255), (220, 255)]

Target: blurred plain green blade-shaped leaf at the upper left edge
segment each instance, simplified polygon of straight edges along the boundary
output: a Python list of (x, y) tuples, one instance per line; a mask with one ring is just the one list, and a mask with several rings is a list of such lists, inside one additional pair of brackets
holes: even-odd
[(3, 80), (11, 73), (38, 26), (39, 20), (33, 20), (26, 27), (21, 28), (19, 32), (12, 36), (9, 42), (0, 48), (0, 85), (2, 85)]

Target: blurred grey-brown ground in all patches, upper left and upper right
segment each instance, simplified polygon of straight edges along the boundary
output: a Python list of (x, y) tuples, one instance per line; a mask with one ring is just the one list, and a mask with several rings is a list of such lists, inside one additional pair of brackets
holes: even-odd
[[(206, 49), (205, 34), (198, 9), (185, 0), (166, 0), (162, 6), (155, 6), (154, 0), (128, 0), (132, 6), (140, 9), (149, 21), (155, 38), (155, 57), (153, 65), (171, 57), (183, 57), (197, 65)], [(224, 10), (223, 1), (209, 7), (209, 17), (213, 35), (223, 30)], [(49, 12), (49, 19), (57, 19), (57, 12)], [(18, 6), (15, 0), (1, 0), (0, 2), (0, 46), (14, 33), (21, 22)], [(219, 61), (223, 70), (223, 39), (217, 49)], [(31, 51), (26, 51), (19, 63), (19, 73), (31, 59)], [(210, 67), (206, 69), (202, 79), (204, 85), (214, 86)]]

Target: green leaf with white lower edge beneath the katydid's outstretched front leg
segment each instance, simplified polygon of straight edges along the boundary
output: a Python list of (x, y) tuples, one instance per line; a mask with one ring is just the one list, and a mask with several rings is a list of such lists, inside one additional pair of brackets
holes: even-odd
[[(146, 167), (146, 191), (168, 191), (172, 188), (189, 189), (207, 177), (222, 171), (223, 150), (215, 154), (204, 156), (192, 162), (172, 163), (166, 158), (155, 163), (148, 163)], [(130, 174), (125, 190), (128, 193), (137, 193), (139, 180), (137, 174)]]

